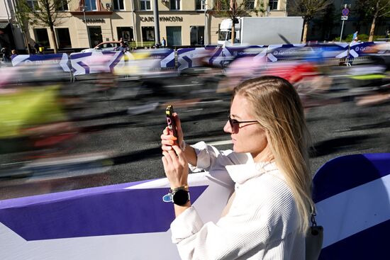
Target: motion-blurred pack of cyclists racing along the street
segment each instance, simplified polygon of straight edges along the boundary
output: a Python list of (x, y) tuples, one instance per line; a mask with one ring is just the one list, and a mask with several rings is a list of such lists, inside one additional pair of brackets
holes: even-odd
[(194, 106), (210, 96), (230, 96), (235, 85), (262, 75), (288, 79), (307, 110), (342, 101), (356, 106), (390, 102), (390, 43), (376, 45), (361, 59), (331, 59), (326, 52), (332, 50), (310, 47), (277, 62), (257, 52), (218, 66), (210, 60), (213, 51), (205, 50), (196, 66), (180, 71), (161, 68), (161, 50), (126, 52), (123, 66), (108, 69), (107, 57), (91, 56), (88, 64), (94, 69), (89, 69), (95, 73), (79, 77), (50, 60), (0, 67), (0, 186), (70, 170), (104, 173), (113, 164), (111, 151), (74, 149), (88, 142), (86, 133), (99, 130), (96, 120), (145, 116), (172, 100)]

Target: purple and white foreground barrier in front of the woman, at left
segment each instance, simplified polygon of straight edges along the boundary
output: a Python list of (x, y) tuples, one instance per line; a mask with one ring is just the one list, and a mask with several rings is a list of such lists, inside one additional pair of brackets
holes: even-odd
[[(218, 220), (234, 188), (228, 174), (190, 174), (189, 185), (201, 218)], [(157, 179), (0, 200), (0, 259), (179, 260), (168, 192)]]

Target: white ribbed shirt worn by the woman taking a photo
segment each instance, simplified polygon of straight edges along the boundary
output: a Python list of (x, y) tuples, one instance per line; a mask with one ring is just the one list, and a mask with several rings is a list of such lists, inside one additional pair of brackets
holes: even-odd
[[(250, 154), (194, 145), (194, 171), (225, 165), (235, 181), (235, 198), (218, 222), (202, 222), (191, 207), (171, 224), (182, 259), (305, 259), (304, 234), (294, 196), (274, 163), (255, 163)], [(190, 191), (191, 192), (191, 191)]]

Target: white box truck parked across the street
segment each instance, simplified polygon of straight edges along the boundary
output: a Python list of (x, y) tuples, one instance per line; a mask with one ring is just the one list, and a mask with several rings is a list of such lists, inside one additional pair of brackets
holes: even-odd
[[(301, 43), (303, 18), (287, 17), (241, 17), (235, 23), (235, 44), (275, 45)], [(231, 45), (232, 20), (221, 23), (218, 45)]]

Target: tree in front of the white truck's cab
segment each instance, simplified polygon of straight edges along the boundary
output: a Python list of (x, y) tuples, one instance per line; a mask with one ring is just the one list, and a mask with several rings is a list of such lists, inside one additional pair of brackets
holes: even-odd
[[(231, 43), (235, 39), (235, 23), (238, 23), (238, 18), (242, 16), (249, 16), (251, 11), (256, 13), (264, 13), (264, 3), (255, 6), (254, 0), (217, 0), (213, 7), (214, 13), (228, 17), (232, 20)], [(267, 9), (265, 9), (267, 10)]]

